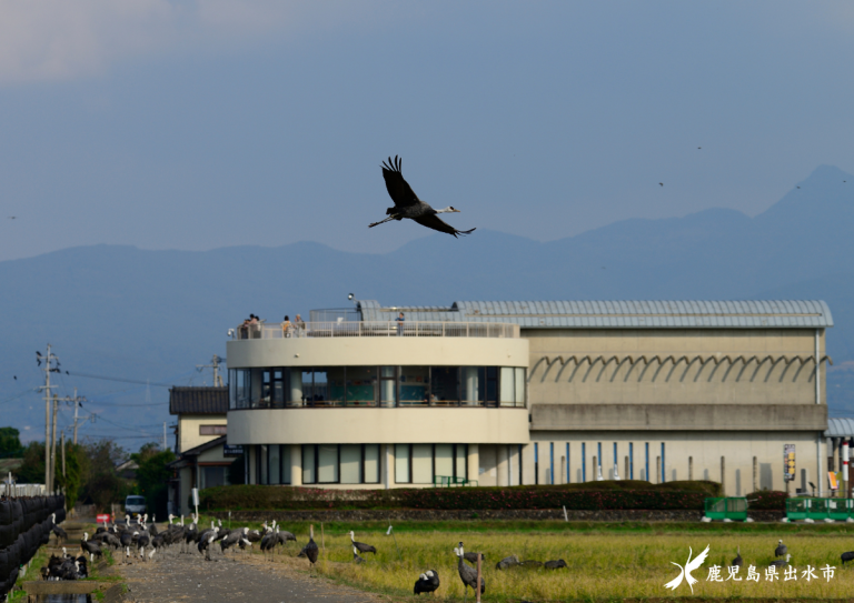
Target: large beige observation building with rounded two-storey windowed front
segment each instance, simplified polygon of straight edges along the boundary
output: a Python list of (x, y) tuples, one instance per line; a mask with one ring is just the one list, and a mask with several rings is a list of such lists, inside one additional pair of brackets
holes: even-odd
[(228, 443), (257, 484), (821, 493), (830, 326), (822, 301), (363, 300), (230, 332)]

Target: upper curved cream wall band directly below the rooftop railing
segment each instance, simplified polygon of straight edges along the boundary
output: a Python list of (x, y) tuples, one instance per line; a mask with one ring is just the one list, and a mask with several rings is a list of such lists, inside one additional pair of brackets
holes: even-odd
[(230, 369), (256, 366), (527, 366), (528, 340), (503, 338), (291, 338), (227, 342)]

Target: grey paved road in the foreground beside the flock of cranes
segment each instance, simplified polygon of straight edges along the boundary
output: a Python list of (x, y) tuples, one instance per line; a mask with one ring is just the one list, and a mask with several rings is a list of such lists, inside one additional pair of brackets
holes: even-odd
[[(158, 553), (156, 557), (160, 555)], [(240, 556), (240, 555), (238, 555)], [(257, 557), (257, 555), (252, 555)], [(206, 603), (376, 603), (373, 595), (288, 571), (259, 559), (240, 561), (215, 554), (167, 553), (159, 561), (117, 564), (137, 603), (203, 601)], [(239, 599), (238, 599), (239, 597)]]

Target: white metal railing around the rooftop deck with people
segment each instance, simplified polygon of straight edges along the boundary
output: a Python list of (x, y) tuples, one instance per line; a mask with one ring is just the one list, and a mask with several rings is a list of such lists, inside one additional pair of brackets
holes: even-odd
[(519, 325), (498, 322), (338, 321), (241, 324), (232, 339), (285, 338), (495, 338), (518, 339)]

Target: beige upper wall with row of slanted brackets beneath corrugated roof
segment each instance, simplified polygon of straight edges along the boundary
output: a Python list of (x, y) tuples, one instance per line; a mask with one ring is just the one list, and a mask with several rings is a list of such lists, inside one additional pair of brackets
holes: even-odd
[[(530, 341), (530, 404), (815, 402), (814, 362), (777, 360), (812, 359), (813, 329), (527, 330), (523, 335)], [(594, 362), (578, 358), (583, 355), (593, 356)], [(640, 355), (647, 359), (640, 360)], [(673, 355), (678, 362), (659, 362), (652, 355)], [(758, 355), (759, 360), (769, 355), (772, 360), (723, 360), (727, 355)], [(578, 362), (569, 360), (572, 356)], [(820, 372), (822, 400), (825, 369), (826, 363)]]

